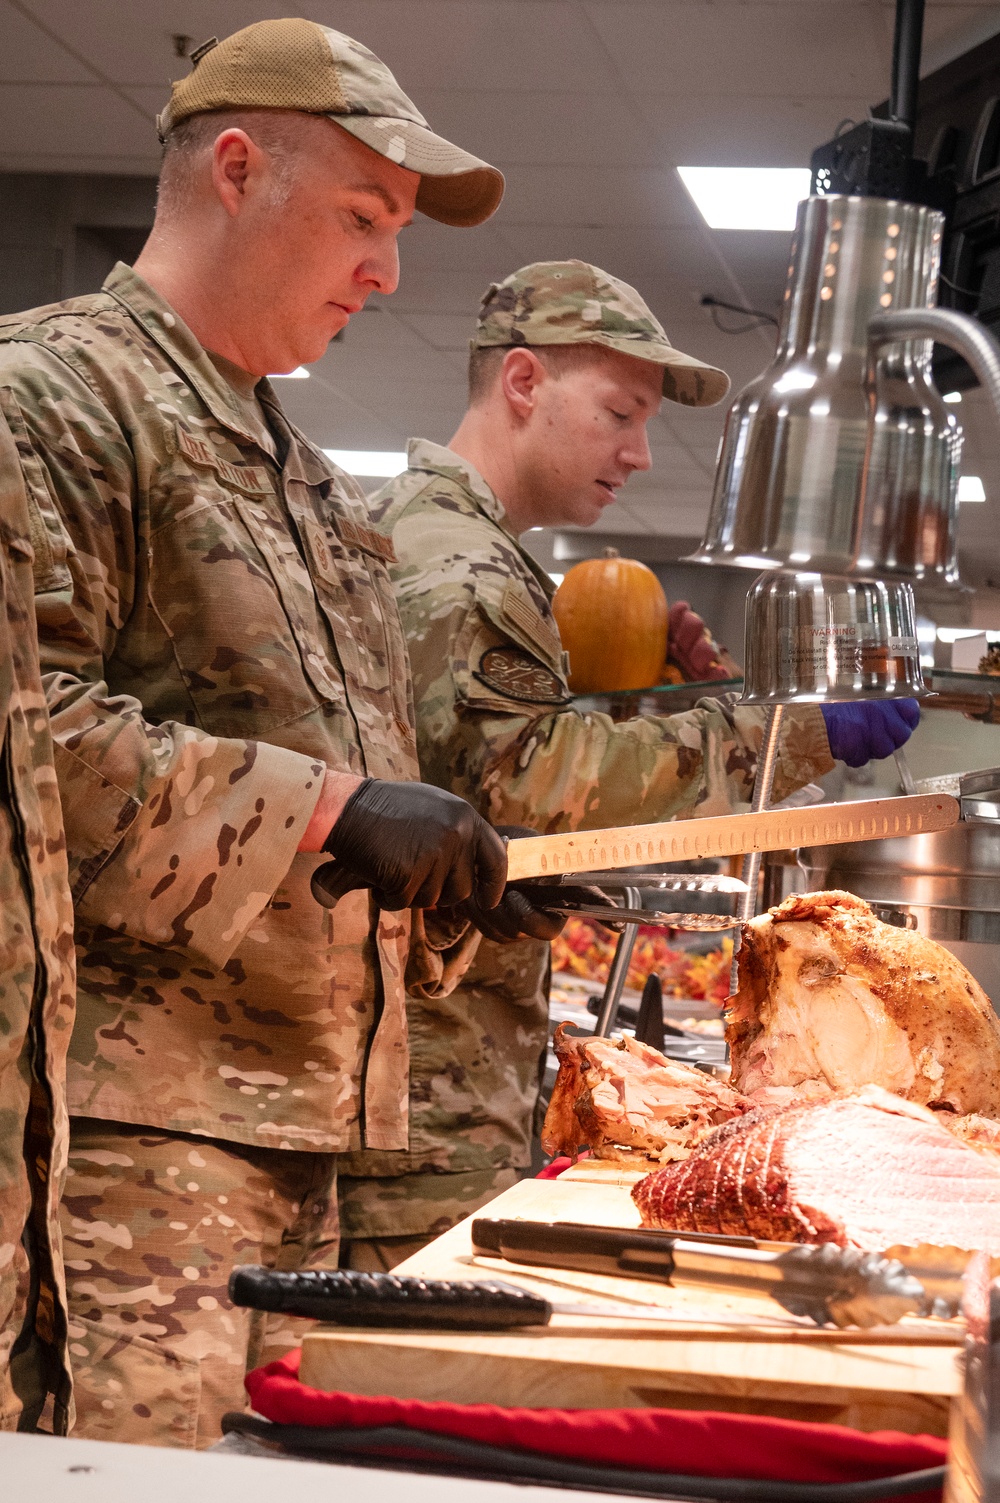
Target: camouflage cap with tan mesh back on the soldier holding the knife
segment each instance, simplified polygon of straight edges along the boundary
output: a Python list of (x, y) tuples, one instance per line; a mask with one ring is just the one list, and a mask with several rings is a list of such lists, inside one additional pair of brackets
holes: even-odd
[(421, 174), (417, 207), (442, 224), (481, 224), (504, 197), (504, 174), (435, 135), (374, 53), (343, 32), (295, 18), (257, 21), (191, 54), (156, 120), (159, 140), (212, 110), (302, 110)]

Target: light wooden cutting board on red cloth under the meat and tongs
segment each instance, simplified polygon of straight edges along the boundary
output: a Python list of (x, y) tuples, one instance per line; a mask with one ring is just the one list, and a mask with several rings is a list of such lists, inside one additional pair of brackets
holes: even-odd
[[(522, 1180), (477, 1214), (636, 1226), (635, 1175), (577, 1171), (567, 1180)], [(552, 1300), (618, 1296), (659, 1303), (684, 1323), (659, 1326), (556, 1315), (517, 1332), (359, 1332), (316, 1327), (302, 1345), (311, 1387), (395, 1398), (559, 1408), (713, 1408), (853, 1425), (947, 1432), (961, 1387), (956, 1323), (904, 1321), (878, 1332), (767, 1327), (770, 1300), (567, 1270), (520, 1272), (477, 1260), (471, 1220), (400, 1264), (433, 1279), (501, 1276)], [(713, 1326), (740, 1315), (746, 1329)]]

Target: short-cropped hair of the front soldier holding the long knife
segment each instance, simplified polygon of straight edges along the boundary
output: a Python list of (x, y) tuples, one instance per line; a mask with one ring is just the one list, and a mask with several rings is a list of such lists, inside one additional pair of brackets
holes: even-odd
[(298, 165), (310, 146), (329, 140), (329, 122), (299, 110), (211, 110), (191, 114), (164, 141), (156, 192), (161, 213), (176, 213), (189, 204), (202, 158), (212, 150), (223, 131), (230, 129), (245, 131), (271, 158), (275, 207), (287, 201)]

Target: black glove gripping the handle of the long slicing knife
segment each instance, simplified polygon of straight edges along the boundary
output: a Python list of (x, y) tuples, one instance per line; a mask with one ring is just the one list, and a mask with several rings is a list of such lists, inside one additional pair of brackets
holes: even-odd
[(323, 851), (337, 864), (320, 867), (314, 887), (326, 887), (329, 872), (331, 893), (370, 887), (379, 908), (389, 911), (472, 899), (489, 912), (504, 893), (507, 851), (501, 837), (465, 798), (430, 783), (365, 779), (344, 804)]

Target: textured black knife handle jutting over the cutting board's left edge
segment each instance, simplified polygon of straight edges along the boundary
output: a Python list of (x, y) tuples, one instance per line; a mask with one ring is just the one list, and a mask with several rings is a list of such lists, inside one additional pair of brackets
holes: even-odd
[(278, 1273), (245, 1264), (230, 1273), (229, 1297), (257, 1311), (397, 1330), (508, 1330), (546, 1326), (552, 1317), (547, 1300), (498, 1279), (414, 1279), (353, 1269)]

